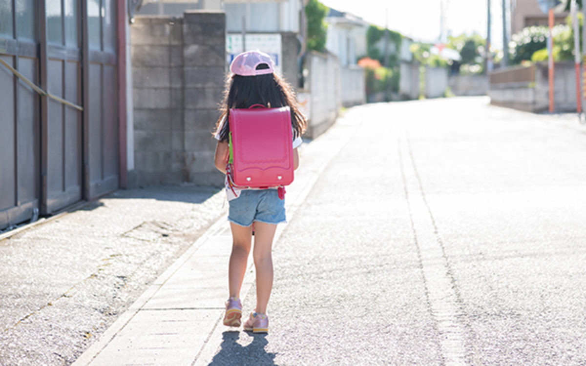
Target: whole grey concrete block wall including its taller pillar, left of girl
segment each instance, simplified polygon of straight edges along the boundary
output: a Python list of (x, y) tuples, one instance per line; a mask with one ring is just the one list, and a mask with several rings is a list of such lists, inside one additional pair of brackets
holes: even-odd
[(210, 131), (224, 87), (223, 12), (137, 16), (131, 26), (136, 186), (221, 185)]

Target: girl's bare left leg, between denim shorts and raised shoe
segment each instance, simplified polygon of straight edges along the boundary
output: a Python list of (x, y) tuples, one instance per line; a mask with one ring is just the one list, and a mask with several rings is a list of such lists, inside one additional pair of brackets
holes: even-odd
[(230, 264), (228, 267), (228, 281), (230, 297), (240, 297), (240, 288), (244, 275), (246, 275), (246, 266), (250, 245), (252, 241), (252, 226), (243, 227), (230, 223), (232, 230), (232, 254), (230, 255)]

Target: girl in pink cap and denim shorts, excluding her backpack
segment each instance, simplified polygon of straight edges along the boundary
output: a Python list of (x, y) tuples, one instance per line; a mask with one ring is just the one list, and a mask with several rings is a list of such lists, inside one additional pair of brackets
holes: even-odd
[[(274, 72), (274, 62), (268, 54), (256, 51), (236, 56), (230, 64), (231, 77), (227, 80), (220, 118), (214, 136), (217, 139), (214, 163), (226, 173), (229, 155), (228, 118), (230, 108), (248, 108), (262, 104), (267, 108), (289, 107), (293, 129), (294, 168), (299, 166), (297, 148), (305, 131), (306, 119), (299, 107), (291, 85)], [(262, 143), (262, 141), (259, 141)], [(239, 189), (230, 187), (226, 177), (226, 194), (229, 202), (228, 220), (232, 231), (232, 253), (229, 264), (230, 297), (226, 301), (224, 325), (239, 327), (242, 304), (240, 288), (246, 273), (254, 231), (253, 258), (256, 269), (257, 302), (244, 330), (254, 333), (268, 332), (267, 304), (272, 289), (272, 240), (278, 223), (285, 220), (285, 201), (280, 199), (277, 189)], [(254, 225), (254, 226), (253, 226)]]

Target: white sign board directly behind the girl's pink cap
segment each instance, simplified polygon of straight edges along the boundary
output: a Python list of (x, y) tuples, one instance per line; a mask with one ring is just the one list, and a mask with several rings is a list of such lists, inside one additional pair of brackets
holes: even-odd
[[(275, 61), (275, 71), (282, 73), (282, 52), (281, 52), (281, 34), (280, 33), (250, 33), (246, 35), (246, 51), (260, 50), (268, 53), (271, 59)], [(228, 64), (234, 60), (239, 53), (244, 52), (242, 35), (226, 35), (226, 58)]]

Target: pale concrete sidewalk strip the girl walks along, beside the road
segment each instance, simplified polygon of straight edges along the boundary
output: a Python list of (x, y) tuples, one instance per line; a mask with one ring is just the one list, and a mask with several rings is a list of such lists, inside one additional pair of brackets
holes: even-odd
[[(365, 108), (365, 107), (359, 107)], [(359, 108), (350, 111), (359, 112)], [(326, 134), (304, 145), (301, 167), (287, 188), (290, 221), (329, 161), (349, 141), (355, 126), (340, 118)], [(349, 119), (347, 119), (349, 121)], [(275, 243), (287, 224), (281, 224)], [(207, 365), (220, 343), (227, 269), (229, 223), (222, 216), (102, 334), (74, 365)], [(241, 297), (254, 282), (254, 267)], [(246, 314), (251, 309), (243, 309)]]

